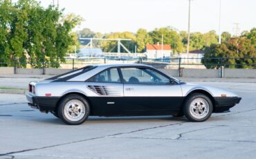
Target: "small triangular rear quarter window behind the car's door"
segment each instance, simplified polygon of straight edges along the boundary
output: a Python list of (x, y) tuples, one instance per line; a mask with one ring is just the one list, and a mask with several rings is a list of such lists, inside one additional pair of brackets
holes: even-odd
[(91, 77), (90, 79), (87, 80), (87, 82), (109, 82), (109, 83), (120, 82), (118, 69), (109, 68), (106, 71), (103, 71)]

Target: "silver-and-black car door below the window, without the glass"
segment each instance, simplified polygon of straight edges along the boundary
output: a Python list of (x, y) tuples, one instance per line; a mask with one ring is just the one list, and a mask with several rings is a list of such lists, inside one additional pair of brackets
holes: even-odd
[(180, 109), (183, 97), (178, 84), (125, 84), (124, 100), (131, 113), (170, 114)]

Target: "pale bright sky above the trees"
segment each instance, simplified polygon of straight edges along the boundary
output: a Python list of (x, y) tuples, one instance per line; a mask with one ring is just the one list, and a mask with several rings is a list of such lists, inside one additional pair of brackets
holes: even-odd
[[(42, 0), (43, 6), (54, 0)], [(59, 0), (64, 13), (84, 18), (82, 28), (95, 32), (136, 32), (138, 28), (154, 30), (172, 26), (188, 30), (188, 0)], [(221, 32), (235, 34), (256, 27), (255, 0), (192, 0), (191, 32), (219, 32), (219, 2), (221, 1)], [(55, 4), (57, 0), (55, 0)]]

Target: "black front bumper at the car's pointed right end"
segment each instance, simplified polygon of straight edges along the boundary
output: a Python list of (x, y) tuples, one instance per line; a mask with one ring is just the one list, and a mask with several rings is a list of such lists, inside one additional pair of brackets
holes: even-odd
[(241, 97), (214, 97), (215, 100), (215, 113), (229, 111), (230, 108), (239, 104)]

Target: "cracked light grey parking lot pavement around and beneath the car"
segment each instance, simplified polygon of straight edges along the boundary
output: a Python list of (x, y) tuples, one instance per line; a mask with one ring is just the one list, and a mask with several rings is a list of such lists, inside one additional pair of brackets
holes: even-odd
[(90, 117), (68, 126), (0, 94), (0, 158), (255, 158), (256, 83), (194, 82), (242, 97), (230, 113), (201, 123), (172, 116)]

